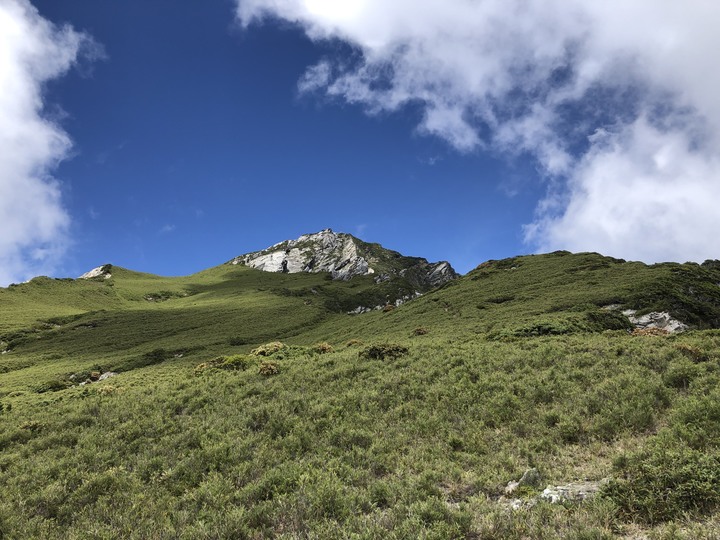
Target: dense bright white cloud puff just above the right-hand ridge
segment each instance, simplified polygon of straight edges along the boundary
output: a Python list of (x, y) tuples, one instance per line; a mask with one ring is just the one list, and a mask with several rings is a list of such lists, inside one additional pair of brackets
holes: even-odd
[[(592, 249), (646, 261), (720, 256), (718, 156), (645, 117), (599, 138), (575, 168), (561, 211), (542, 212), (526, 228), (541, 250)], [(551, 198), (545, 202), (553, 206)]]

